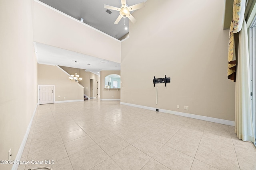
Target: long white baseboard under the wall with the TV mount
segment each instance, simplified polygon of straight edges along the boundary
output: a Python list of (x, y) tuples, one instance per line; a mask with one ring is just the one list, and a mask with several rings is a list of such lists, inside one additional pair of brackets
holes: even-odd
[[(141, 105), (136, 105), (136, 104), (124, 103), (124, 102), (120, 102), (120, 104), (127, 105), (127, 106), (133, 106), (133, 107), (139, 107), (142, 109), (148, 109), (148, 110), (153, 110), (153, 111), (156, 111), (156, 109), (157, 109), (154, 107), (141, 106)], [(179, 116), (190, 117), (190, 118), (194, 118), (194, 119), (200, 119), (200, 120), (204, 120), (204, 121), (210, 121), (210, 122), (214, 122), (214, 123), (220, 123), (220, 124), (224, 124), (224, 125), (235, 126), (235, 122), (230, 121), (230, 120), (218, 119), (218, 118), (214, 118), (214, 117), (207, 117), (207, 116), (201, 116), (201, 115), (194, 115), (194, 114), (190, 114), (190, 113), (183, 113), (183, 112), (179, 112), (179, 111), (172, 111), (172, 110), (166, 110), (166, 109), (158, 109), (158, 111), (163, 112), (163, 113), (170, 113), (173, 115), (179, 115)]]

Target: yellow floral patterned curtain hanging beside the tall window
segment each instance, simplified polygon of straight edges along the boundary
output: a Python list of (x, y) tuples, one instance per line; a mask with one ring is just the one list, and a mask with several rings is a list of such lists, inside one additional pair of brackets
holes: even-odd
[(230, 24), (229, 41), (228, 41), (228, 79), (236, 81), (236, 53), (234, 43), (234, 33), (242, 29), (244, 20), (246, 0), (234, 0), (233, 20)]

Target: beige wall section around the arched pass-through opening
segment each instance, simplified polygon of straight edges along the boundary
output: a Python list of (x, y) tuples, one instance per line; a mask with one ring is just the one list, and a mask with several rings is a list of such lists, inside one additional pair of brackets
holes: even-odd
[(120, 89), (105, 89), (105, 77), (109, 74), (120, 75), (120, 70), (100, 71), (100, 100), (120, 100)]

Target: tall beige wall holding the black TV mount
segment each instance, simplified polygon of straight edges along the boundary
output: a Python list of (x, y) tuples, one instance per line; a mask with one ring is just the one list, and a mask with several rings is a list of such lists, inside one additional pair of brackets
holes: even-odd
[[(122, 42), (121, 102), (234, 121), (224, 5), (222, 0), (148, 0), (134, 12), (137, 22), (130, 23), (130, 36)], [(156, 105), (152, 80), (165, 75), (171, 82), (156, 84)]]

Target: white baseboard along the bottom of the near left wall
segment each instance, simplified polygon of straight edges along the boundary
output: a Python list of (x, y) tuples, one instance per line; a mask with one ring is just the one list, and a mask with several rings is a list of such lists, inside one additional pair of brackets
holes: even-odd
[[(39, 103), (38, 103), (38, 104), (39, 104)], [(36, 104), (36, 108), (37, 108), (38, 104)], [(20, 161), (20, 158), (21, 158), (21, 156), (22, 156), (22, 153), (23, 153), (23, 150), (24, 150), (24, 148), (25, 148), (25, 145), (26, 145), (26, 142), (27, 142), (27, 139), (28, 139), (28, 135), (29, 135), (29, 132), (30, 132), (30, 129), (31, 129), (31, 125), (32, 125), (32, 122), (33, 122), (33, 119), (34, 119), (34, 115), (35, 115), (35, 113), (36, 113), (36, 108), (34, 109), (34, 112), (33, 112), (33, 114), (32, 114), (32, 117), (31, 117), (31, 119), (30, 119), (30, 122), (29, 122), (29, 124), (28, 124), (27, 131), (26, 131), (26, 133), (25, 133), (25, 135), (24, 135), (24, 137), (23, 137), (22, 143), (21, 143), (21, 145), (20, 145), (20, 149), (18, 150), (18, 153), (17, 153), (17, 155), (16, 155), (15, 162), (16, 162), (17, 160)], [(13, 164), (12, 170), (17, 170), (17, 169), (18, 169), (18, 166), (19, 166), (19, 164)]]

